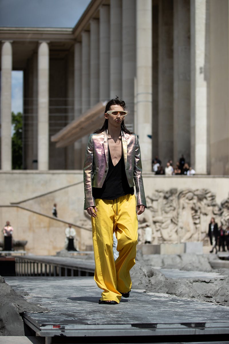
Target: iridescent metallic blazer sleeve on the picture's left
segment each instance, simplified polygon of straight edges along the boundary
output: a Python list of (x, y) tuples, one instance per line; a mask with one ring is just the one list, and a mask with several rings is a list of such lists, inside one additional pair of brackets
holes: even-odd
[(95, 200), (92, 196), (93, 160), (93, 134), (91, 134), (88, 139), (83, 166), (84, 209), (95, 205)]

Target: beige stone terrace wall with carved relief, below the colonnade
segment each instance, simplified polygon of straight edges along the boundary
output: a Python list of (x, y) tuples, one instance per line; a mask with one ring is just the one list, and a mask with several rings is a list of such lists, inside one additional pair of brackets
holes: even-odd
[[(1, 172), (0, 176), (2, 227), (9, 220), (15, 229), (14, 239), (28, 240), (26, 250), (55, 254), (64, 247), (68, 222), (88, 229), (77, 232), (80, 249), (92, 244), (91, 219), (83, 210), (82, 171), (14, 171)], [(228, 177), (147, 173), (143, 179), (148, 207), (138, 217), (139, 244), (144, 241), (146, 222), (152, 228), (152, 244), (202, 241), (208, 245), (206, 234), (211, 216), (218, 224), (228, 224)], [(27, 210), (7, 207), (10, 202), (19, 202)], [(53, 203), (57, 203), (57, 219), (51, 216)]]

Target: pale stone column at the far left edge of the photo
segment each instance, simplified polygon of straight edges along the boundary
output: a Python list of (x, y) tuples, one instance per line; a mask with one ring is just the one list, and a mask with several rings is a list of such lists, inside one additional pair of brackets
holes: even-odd
[(12, 42), (3, 41), (1, 49), (1, 169), (12, 169), (11, 72)]

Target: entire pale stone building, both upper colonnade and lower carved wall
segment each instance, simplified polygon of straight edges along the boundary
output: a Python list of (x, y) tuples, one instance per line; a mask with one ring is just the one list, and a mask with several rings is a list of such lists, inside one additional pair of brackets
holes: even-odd
[[(182, 242), (182, 236), (206, 243), (202, 234), (215, 214), (212, 204), (206, 208), (199, 202), (206, 194), (207, 201), (210, 195), (218, 209), (224, 209), (217, 221), (227, 225), (228, 210), (222, 202), (228, 200), (229, 190), (228, 13), (228, 0), (221, 0), (220, 6), (215, 0), (92, 0), (73, 29), (0, 27), (0, 221), (3, 225), (9, 217), (20, 232), (17, 239), (26, 239), (26, 217), (30, 252), (38, 222), (43, 224), (42, 235), (45, 227), (60, 228), (68, 221), (82, 231), (89, 229), (90, 218), (82, 209), (82, 166), (88, 135), (101, 123), (95, 122), (93, 129), (85, 123), (90, 132), (84, 129), (75, 142), (68, 137), (67, 147), (58, 148), (51, 137), (99, 101), (116, 95), (126, 101), (125, 123), (137, 133), (141, 147), (149, 207), (139, 226), (151, 223), (154, 243)], [(12, 70), (24, 74), (27, 171), (18, 172), (11, 171)], [(175, 165), (181, 154), (196, 176), (152, 174), (156, 155), (165, 166), (170, 159)], [(192, 199), (198, 199), (194, 205)], [(175, 213), (165, 214), (173, 201), (178, 205)], [(47, 217), (54, 202), (60, 216), (56, 223)], [(186, 209), (183, 214), (180, 205)], [(193, 210), (202, 205), (199, 213)], [(61, 249), (61, 230), (54, 250)]]

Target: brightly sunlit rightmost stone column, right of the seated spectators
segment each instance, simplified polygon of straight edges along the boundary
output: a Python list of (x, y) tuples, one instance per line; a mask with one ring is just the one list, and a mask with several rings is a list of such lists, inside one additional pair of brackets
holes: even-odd
[(206, 0), (191, 4), (191, 165), (207, 173)]

